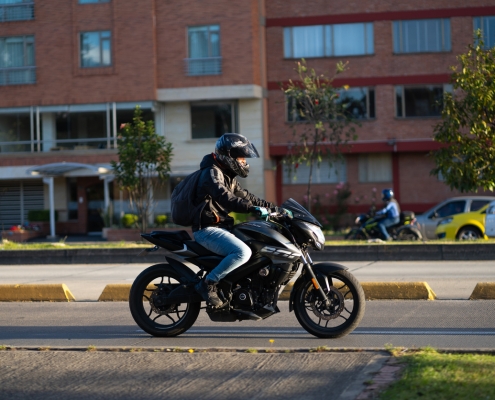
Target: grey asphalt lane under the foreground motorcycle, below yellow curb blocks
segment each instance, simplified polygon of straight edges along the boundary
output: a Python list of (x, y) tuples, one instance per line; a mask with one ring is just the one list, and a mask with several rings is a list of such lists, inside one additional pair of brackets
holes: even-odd
[[(368, 301), (360, 326), (340, 339), (318, 339), (288, 312), (263, 321), (211, 322), (204, 311), (175, 338), (156, 338), (134, 323), (125, 302), (2, 303), (0, 345), (20, 347), (384, 349), (433, 346), (493, 349), (495, 301)], [(273, 344), (270, 339), (274, 340)]]

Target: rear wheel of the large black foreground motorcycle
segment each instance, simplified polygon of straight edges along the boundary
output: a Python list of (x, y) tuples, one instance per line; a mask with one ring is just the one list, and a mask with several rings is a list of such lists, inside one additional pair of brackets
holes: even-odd
[[(156, 306), (153, 296), (161, 290), (171, 291), (167, 284), (180, 283), (180, 276), (169, 264), (156, 264), (141, 272), (131, 286), (129, 308), (136, 324), (153, 336), (172, 337), (187, 331), (196, 321), (201, 302)], [(162, 294), (163, 296), (163, 294)]]

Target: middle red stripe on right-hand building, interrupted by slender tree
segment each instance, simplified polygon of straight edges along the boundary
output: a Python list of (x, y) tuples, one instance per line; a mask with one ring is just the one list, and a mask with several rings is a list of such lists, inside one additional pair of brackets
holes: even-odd
[[(428, 85), (441, 84), (450, 82), (450, 74), (435, 75), (402, 75), (402, 76), (371, 76), (365, 78), (340, 78), (333, 81), (333, 86), (340, 87), (349, 85), (358, 86), (377, 86), (377, 85)], [(297, 81), (293, 81), (296, 82)], [(268, 90), (281, 90), (286, 87), (289, 81), (268, 82)]]

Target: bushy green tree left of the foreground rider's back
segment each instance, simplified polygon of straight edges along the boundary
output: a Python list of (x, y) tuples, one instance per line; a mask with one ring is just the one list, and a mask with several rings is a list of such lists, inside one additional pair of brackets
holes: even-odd
[(137, 226), (146, 231), (147, 217), (153, 208), (153, 193), (170, 172), (172, 144), (155, 132), (153, 121), (144, 121), (142, 111), (134, 110), (131, 123), (122, 124), (117, 138), (119, 162), (112, 161), (115, 180), (129, 193), (138, 214)]

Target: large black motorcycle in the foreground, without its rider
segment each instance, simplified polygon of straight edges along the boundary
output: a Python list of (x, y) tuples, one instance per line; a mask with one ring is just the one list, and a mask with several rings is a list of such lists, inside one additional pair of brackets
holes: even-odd
[[(206, 304), (194, 289), (223, 259), (191, 240), (184, 231), (141, 234), (170, 253), (167, 263), (141, 272), (132, 284), (129, 307), (145, 332), (171, 337), (186, 332), (206, 309), (214, 322), (260, 321), (280, 312), (281, 289), (296, 276), (289, 312), (301, 326), (319, 338), (339, 338), (352, 332), (365, 310), (363, 288), (347, 268), (332, 262), (313, 263), (309, 250), (323, 250), (321, 224), (299, 203), (287, 200), (266, 220), (237, 224), (232, 233), (252, 249), (250, 260), (230, 272), (218, 286), (224, 303)], [(197, 270), (196, 272), (193, 271)]]

